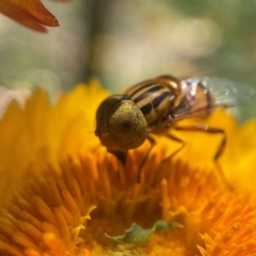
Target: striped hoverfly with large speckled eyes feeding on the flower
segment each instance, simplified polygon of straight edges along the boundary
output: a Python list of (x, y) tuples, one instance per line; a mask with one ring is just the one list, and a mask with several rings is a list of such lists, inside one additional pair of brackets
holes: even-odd
[[(171, 75), (162, 75), (135, 84), (124, 94), (109, 96), (103, 101), (96, 113), (95, 134), (108, 152), (125, 162), (127, 151), (141, 146), (146, 139), (151, 143), (149, 154), (154, 147), (151, 133), (165, 134), (181, 143), (173, 154), (177, 154), (185, 142), (164, 133), (167, 129), (221, 133), (223, 140), (214, 156), (217, 162), (226, 143), (224, 130), (207, 125), (179, 127), (178, 121), (195, 116), (207, 117), (216, 108), (240, 105), (253, 95), (253, 88), (227, 79), (205, 77), (179, 81)], [(221, 171), (220, 174), (224, 178)]]

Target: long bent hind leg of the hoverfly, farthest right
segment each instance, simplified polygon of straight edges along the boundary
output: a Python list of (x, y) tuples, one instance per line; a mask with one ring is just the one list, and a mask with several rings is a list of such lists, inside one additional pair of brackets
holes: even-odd
[(230, 191), (235, 190), (234, 187), (230, 184), (230, 182), (225, 177), (221, 166), (218, 164), (218, 158), (221, 156), (221, 154), (223, 154), (224, 148), (225, 148), (225, 145), (226, 145), (226, 141), (227, 141), (225, 131), (221, 128), (214, 128), (214, 127), (210, 127), (208, 125), (195, 125), (195, 126), (183, 126), (183, 127), (182, 126), (177, 126), (177, 127), (175, 127), (175, 129), (179, 130), (179, 131), (201, 131), (201, 132), (207, 132), (207, 133), (211, 133), (211, 134), (222, 134), (223, 135), (223, 139), (222, 139), (221, 143), (219, 143), (217, 152), (214, 155), (214, 161), (215, 161), (216, 166), (218, 168), (219, 176), (223, 180), (226, 187), (228, 189), (230, 189)]

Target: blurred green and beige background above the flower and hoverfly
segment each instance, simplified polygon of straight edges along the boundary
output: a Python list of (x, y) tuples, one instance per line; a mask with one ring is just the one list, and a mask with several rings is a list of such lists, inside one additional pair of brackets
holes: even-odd
[[(113, 92), (171, 73), (256, 84), (256, 1), (44, 1), (61, 27), (40, 34), (0, 16), (0, 84), (69, 90), (91, 76)], [(242, 110), (255, 116), (256, 100)]]

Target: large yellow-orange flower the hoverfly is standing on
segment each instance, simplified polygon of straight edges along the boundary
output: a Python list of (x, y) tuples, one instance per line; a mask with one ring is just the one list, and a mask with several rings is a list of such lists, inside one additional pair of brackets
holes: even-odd
[[(156, 137), (131, 150), (125, 166), (94, 136), (96, 108), (108, 94), (96, 80), (61, 96), (55, 107), (36, 90), (24, 109), (12, 103), (0, 121), (0, 252), (3, 255), (254, 255), (256, 166), (254, 121), (241, 128), (224, 111), (205, 120), (224, 128), (219, 160), (236, 190), (219, 177), (212, 156), (221, 135), (176, 131), (187, 145)], [(181, 125), (194, 120), (184, 120)], [(137, 223), (183, 224), (141, 244), (118, 244)]]

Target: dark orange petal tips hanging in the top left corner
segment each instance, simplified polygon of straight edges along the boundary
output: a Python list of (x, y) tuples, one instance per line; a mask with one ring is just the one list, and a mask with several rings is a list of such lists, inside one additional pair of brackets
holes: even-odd
[(44, 26), (59, 26), (40, 0), (1, 0), (0, 12), (38, 32), (46, 32)]

